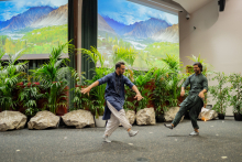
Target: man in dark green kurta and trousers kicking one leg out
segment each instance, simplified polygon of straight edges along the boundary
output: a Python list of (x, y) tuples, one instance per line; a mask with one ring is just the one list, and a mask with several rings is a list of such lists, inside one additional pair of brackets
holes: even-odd
[(170, 125), (166, 125), (165, 127), (173, 129), (175, 128), (182, 117), (185, 115), (187, 110), (189, 110), (190, 120), (194, 127), (194, 132), (190, 136), (199, 134), (199, 126), (197, 125), (197, 118), (204, 107), (205, 93), (208, 91), (208, 79), (206, 76), (201, 74), (202, 65), (200, 63), (194, 63), (195, 74), (190, 75), (182, 86), (180, 96), (185, 95), (185, 88), (190, 84), (190, 91), (187, 98), (180, 104), (180, 109), (176, 114), (175, 119)]

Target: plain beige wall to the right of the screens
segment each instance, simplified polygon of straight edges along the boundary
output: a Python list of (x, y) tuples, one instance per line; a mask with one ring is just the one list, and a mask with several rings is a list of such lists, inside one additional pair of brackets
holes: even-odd
[[(226, 10), (218, 11), (213, 0), (190, 14), (179, 13), (180, 60), (191, 65), (186, 56), (201, 54), (217, 72), (240, 73), (242, 69), (242, 0), (227, 0)], [(196, 30), (194, 30), (196, 26)], [(216, 82), (209, 82), (209, 86)], [(209, 99), (208, 104), (212, 104)], [(228, 108), (227, 115), (232, 115)]]

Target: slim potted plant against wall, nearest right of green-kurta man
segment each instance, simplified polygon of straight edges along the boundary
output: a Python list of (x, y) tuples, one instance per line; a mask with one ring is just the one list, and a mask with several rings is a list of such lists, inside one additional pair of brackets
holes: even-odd
[(224, 119), (226, 110), (230, 101), (230, 88), (226, 86), (228, 76), (224, 73), (216, 72), (212, 80), (218, 82), (218, 85), (209, 87), (212, 99), (216, 101), (212, 109), (219, 114), (219, 119)]

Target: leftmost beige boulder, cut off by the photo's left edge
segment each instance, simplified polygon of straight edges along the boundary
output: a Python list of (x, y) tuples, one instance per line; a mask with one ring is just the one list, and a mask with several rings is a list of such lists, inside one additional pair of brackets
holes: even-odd
[(26, 123), (26, 116), (19, 111), (0, 112), (0, 131), (22, 129)]

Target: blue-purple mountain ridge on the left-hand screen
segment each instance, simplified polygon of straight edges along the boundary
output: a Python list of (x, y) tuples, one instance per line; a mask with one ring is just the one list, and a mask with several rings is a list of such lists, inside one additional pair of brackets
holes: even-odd
[(28, 11), (12, 17), (10, 20), (0, 23), (0, 31), (15, 31), (31, 25), (43, 15), (48, 14), (54, 9), (51, 7), (33, 7)]

